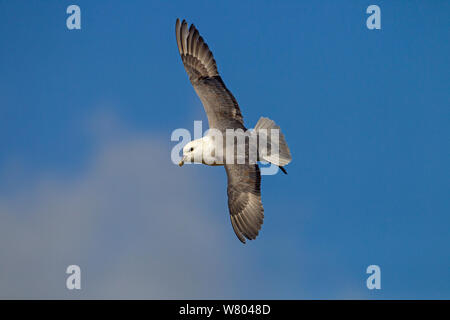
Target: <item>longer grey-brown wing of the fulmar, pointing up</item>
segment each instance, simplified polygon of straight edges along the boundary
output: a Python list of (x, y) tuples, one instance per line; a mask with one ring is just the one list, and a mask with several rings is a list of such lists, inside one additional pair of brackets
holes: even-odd
[(239, 105), (222, 81), (213, 54), (198, 30), (177, 19), (175, 35), (184, 68), (202, 101), (210, 128), (243, 127)]

